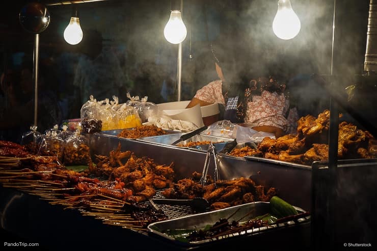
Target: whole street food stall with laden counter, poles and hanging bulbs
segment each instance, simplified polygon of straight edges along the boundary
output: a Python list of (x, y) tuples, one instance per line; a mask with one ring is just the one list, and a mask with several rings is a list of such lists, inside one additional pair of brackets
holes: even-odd
[[(92, 2), (115, 3), (119, 8), (133, 6), (128, 2), (123, 6), (115, 0), (71, 1), (68, 4), (75, 7), (69, 26), (75, 25), (76, 33), (70, 36), (72, 27), (64, 31), (64, 39), (70, 45), (88, 39), (85, 30), (83, 33), (80, 29), (83, 18), (78, 18), (78, 2), (96, 8), (103, 3)], [(144, 2), (140, 5), (150, 4), (150, 1)], [(222, 3), (223, 9), (218, 8), (224, 11), (232, 6), (226, 2)], [(252, 2), (250, 10), (261, 4), (261, 1)], [(153, 81), (161, 79), (150, 77), (150, 69), (160, 69), (153, 64), (138, 65), (138, 73), (143, 74), (143, 78), (139, 79), (134, 69), (132, 85), (127, 89), (134, 93), (142, 89), (137, 93), (140, 97), (131, 96), (129, 91), (124, 95), (122, 86), (117, 86), (119, 92), (116, 92), (117, 80), (101, 83), (96, 87), (96, 95), (79, 88), (79, 92), (90, 94), (89, 99), (74, 97), (82, 99), (76, 111), (79, 118), (67, 119), (39, 132), (39, 118), (46, 115), (38, 110), (39, 47), (42, 53), (48, 48), (43, 42), (40, 46), (39, 36), (43, 41), (53, 14), (66, 12), (59, 11), (64, 3), (46, 1), (44, 4), (25, 3), (19, 14), (21, 26), (33, 36), (29, 43), (34, 45), (34, 99), (28, 104), (34, 105), (34, 123), (30, 130), (18, 135), (20, 142), (3, 136), (0, 140), (0, 210), (5, 243), (38, 243), (45, 250), (116, 247), (190, 250), (234, 248), (234, 245), (252, 245), (266, 250), (319, 250), (325, 246), (343, 247), (343, 243), (348, 247), (354, 247), (355, 243), (374, 245), (377, 226), (369, 219), (377, 208), (376, 195), (372, 192), (377, 184), (377, 127), (375, 106), (370, 96), (365, 95), (375, 93), (372, 33), (367, 33), (365, 74), (358, 75), (355, 84), (344, 90), (340, 89), (340, 82), (344, 81), (340, 76), (341, 48), (336, 47), (341, 44), (341, 36), (333, 28), (331, 72), (327, 76), (310, 74), (310, 81), (315, 80), (329, 95), (326, 99), (329, 106), (298, 117), (294, 130), (278, 137), (252, 130), (245, 123), (219, 120), (221, 109), (217, 103), (186, 108), (190, 101), (181, 101), (181, 95), (189, 92), (185, 84), (190, 83), (190, 76), (185, 70), (192, 66), (194, 40), (191, 35), (192, 29), (195, 30), (187, 24), (195, 23), (195, 15), (192, 22), (183, 18), (183, 23), (183, 1), (172, 1), (164, 36), (174, 44), (174, 54), (178, 49), (178, 60), (174, 62), (177, 72), (173, 72), (178, 101), (168, 98), (167, 102), (163, 99), (154, 102), (151, 99), (155, 97)], [(235, 4), (237, 13), (247, 15), (241, 10), (246, 5), (245, 1)], [(366, 5), (369, 7), (368, 29), (372, 29), (375, 3), (370, 0)], [(105, 12), (114, 11), (114, 6), (110, 5)], [(341, 8), (336, 1), (332, 7), (332, 27), (338, 27), (342, 16), (338, 16), (336, 10)], [(292, 11), (293, 23), (288, 24), (295, 24), (295, 29), (288, 34), (281, 32), (284, 18), (280, 15), (284, 8), (292, 11), (289, 1), (279, 0), (272, 28), (279, 39), (289, 42), (308, 23), (305, 18), (301, 23)], [(204, 10), (207, 13), (208, 10)], [(93, 13), (101, 19), (100, 14)], [(40, 20), (33, 23), (30, 18), (35, 15)], [(80, 17), (83, 16), (86, 17), (81, 13)], [(169, 33), (174, 19), (179, 21), (176, 34)], [(206, 39), (210, 41), (208, 23), (205, 30)], [(38, 24), (38, 29), (32, 24)], [(117, 29), (120, 27), (114, 30)], [(129, 31), (134, 32), (131, 28)], [(338, 32), (341, 34), (344, 30)], [(187, 34), (190, 35), (190, 60), (182, 64), (182, 46)], [(132, 40), (126, 42), (127, 46), (132, 44)], [(282, 44), (278, 45), (281, 49)], [(72, 52), (77, 53), (74, 49)], [(138, 55), (141, 56), (141, 52), (138, 51)], [(211, 54), (215, 55), (213, 49)], [(104, 63), (103, 54), (96, 57)], [(88, 59), (75, 61), (77, 69), (84, 69), (81, 73), (90, 68), (80, 66), (85, 60)], [(90, 69), (94, 69), (94, 63), (91, 66)], [(126, 63), (122, 67), (128, 70)], [(89, 72), (94, 76), (97, 71), (109, 73), (110, 68)], [(43, 83), (45, 78), (42, 79)], [(85, 78), (74, 79), (84, 83)], [(168, 78), (161, 82), (166, 88)], [(186, 88), (184, 91), (182, 86)], [(102, 99), (105, 93), (102, 87), (114, 90), (112, 100)], [(300, 96), (299, 87), (291, 90)], [(142, 96), (148, 91), (151, 91), (150, 96)], [(76, 92), (72, 89), (72, 93)], [(356, 98), (363, 97), (364, 103), (355, 102)], [(41, 103), (44, 105), (44, 101)], [(218, 121), (209, 120), (214, 117)]]

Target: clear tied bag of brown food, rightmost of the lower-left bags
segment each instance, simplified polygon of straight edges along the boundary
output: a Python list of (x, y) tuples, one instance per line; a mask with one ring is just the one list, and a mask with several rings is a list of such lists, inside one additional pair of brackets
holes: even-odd
[(66, 139), (63, 163), (64, 165), (88, 165), (91, 161), (88, 139), (80, 134), (80, 130), (76, 130)]

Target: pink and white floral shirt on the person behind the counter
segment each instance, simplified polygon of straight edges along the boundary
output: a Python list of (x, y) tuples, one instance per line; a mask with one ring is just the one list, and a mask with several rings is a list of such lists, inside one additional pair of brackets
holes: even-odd
[[(221, 80), (210, 82), (198, 90), (194, 97), (205, 102), (219, 103), (225, 106)], [(276, 92), (263, 91), (260, 96), (254, 95), (252, 102), (247, 103), (245, 123), (250, 127), (271, 125), (287, 130), (288, 120), (284, 115), (288, 107), (289, 102), (285, 99), (284, 93), (279, 95)]]

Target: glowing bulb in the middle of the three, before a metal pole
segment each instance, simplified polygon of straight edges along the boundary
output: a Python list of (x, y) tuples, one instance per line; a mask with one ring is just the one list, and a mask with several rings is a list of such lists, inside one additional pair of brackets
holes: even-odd
[(181, 12), (173, 10), (164, 29), (166, 40), (170, 43), (178, 44), (186, 38), (186, 35), (187, 29), (183, 23)]

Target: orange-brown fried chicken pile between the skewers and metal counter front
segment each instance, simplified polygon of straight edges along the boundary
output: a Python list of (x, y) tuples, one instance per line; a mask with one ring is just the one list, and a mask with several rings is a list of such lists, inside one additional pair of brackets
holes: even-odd
[(156, 194), (155, 189), (166, 188), (173, 182), (174, 163), (157, 165), (153, 159), (139, 158), (130, 151), (121, 152), (120, 148), (119, 143), (110, 156), (96, 155), (97, 165), (89, 165), (89, 173), (97, 177), (106, 176), (110, 180), (119, 179), (132, 191), (128, 201), (144, 202)]

